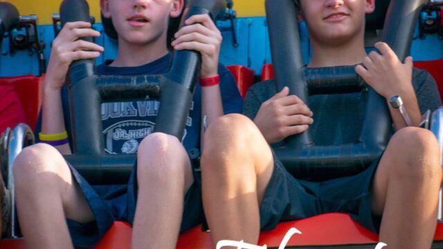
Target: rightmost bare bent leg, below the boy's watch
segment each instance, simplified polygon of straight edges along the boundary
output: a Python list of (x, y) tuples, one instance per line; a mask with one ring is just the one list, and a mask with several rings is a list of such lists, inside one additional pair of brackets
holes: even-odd
[(388, 248), (431, 248), (441, 181), (433, 133), (413, 127), (397, 131), (372, 186), (372, 210), (383, 213), (380, 241)]

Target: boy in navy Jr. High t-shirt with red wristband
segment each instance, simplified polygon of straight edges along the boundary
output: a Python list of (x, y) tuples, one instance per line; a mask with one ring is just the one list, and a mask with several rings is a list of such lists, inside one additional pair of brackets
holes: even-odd
[[(100, 7), (118, 33), (118, 55), (98, 66), (98, 74), (168, 71), (168, 21), (181, 15), (183, 0), (100, 0)], [(224, 113), (240, 112), (242, 100), (232, 75), (219, 66), (221, 34), (213, 21), (195, 15), (186, 24), (171, 45), (199, 51), (202, 65), (182, 140), (151, 133), (158, 102), (102, 104), (105, 151), (137, 154), (129, 184), (123, 186), (91, 186), (62, 157), (71, 154), (62, 104), (69, 64), (103, 51), (78, 40), (100, 35), (91, 24), (78, 21), (62, 28), (44, 82), (41, 143), (24, 149), (14, 166), (19, 222), (28, 248), (90, 247), (115, 220), (133, 223), (133, 248), (174, 248), (179, 232), (201, 221), (199, 176), (188, 151), (201, 149), (202, 117), (211, 124)]]

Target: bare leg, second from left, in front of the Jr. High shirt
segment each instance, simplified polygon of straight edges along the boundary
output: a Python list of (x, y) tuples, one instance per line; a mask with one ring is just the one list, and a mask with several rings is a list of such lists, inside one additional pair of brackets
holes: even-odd
[(138, 147), (137, 160), (132, 248), (175, 248), (183, 199), (194, 181), (188, 154), (174, 136), (152, 133)]

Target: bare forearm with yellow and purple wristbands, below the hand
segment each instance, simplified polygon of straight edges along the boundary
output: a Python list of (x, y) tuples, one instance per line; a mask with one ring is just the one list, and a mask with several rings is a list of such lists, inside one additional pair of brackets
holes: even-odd
[[(61, 90), (45, 87), (42, 103), (41, 132), (44, 134), (58, 134), (64, 131), (66, 131), (66, 126), (64, 124)], [(69, 143), (55, 146), (55, 148), (60, 151), (61, 154), (71, 154)]]

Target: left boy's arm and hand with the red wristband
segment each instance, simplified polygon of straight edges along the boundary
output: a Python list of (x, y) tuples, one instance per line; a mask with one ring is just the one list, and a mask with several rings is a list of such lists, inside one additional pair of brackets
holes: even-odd
[[(194, 15), (186, 20), (185, 26), (177, 32), (172, 42), (176, 50), (197, 50), (201, 53), (201, 78), (217, 76), (221, 33), (208, 15)], [(223, 115), (219, 84), (201, 87), (201, 116), (206, 123)], [(203, 124), (203, 122), (202, 122)], [(203, 130), (203, 129), (202, 129)], [(201, 136), (202, 138), (204, 136)], [(203, 139), (201, 142), (203, 147)]]

